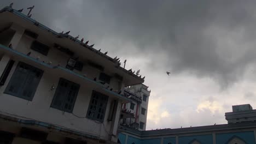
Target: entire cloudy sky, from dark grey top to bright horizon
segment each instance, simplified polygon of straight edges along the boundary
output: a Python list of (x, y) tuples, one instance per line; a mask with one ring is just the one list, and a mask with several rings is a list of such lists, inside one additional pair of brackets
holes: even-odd
[(0, 6), (11, 2), (15, 9), (35, 5), (33, 19), (141, 69), (151, 89), (148, 130), (222, 124), (232, 105), (256, 108), (255, 1), (3, 0)]

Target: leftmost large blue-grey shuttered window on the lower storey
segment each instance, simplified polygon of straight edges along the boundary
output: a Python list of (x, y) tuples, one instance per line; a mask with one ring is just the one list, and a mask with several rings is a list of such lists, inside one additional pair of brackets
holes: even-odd
[(43, 70), (19, 62), (4, 93), (32, 101)]

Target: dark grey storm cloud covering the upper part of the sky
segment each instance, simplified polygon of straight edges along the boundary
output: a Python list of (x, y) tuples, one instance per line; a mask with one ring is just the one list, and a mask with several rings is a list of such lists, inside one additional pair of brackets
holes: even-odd
[[(130, 42), (137, 47), (133, 55), (144, 53), (155, 59), (148, 65), (152, 69), (185, 71), (228, 86), (255, 62), (255, 4), (238, 0), (56, 0), (14, 1), (14, 8), (36, 5), (32, 17), (55, 30), (84, 33), (96, 44), (108, 38)], [(115, 44), (111, 49), (127, 51)], [(166, 53), (167, 60), (158, 61), (154, 52)]]

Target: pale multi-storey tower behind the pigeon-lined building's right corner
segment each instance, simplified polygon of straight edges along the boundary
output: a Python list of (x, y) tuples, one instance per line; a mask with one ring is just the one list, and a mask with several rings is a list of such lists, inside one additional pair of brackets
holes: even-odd
[(138, 130), (146, 130), (150, 95), (148, 87), (142, 83), (126, 87), (124, 94), (132, 101), (122, 105), (120, 125)]

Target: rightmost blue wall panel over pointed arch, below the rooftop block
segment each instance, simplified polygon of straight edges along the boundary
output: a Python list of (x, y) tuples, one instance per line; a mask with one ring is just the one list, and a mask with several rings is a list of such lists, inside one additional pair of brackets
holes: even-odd
[(245, 132), (239, 132), (239, 133), (216, 134), (216, 143), (226, 143), (233, 136), (237, 136), (237, 137), (246, 141), (249, 144), (255, 144), (255, 138), (254, 138), (253, 131), (245, 131)]

